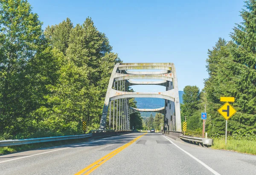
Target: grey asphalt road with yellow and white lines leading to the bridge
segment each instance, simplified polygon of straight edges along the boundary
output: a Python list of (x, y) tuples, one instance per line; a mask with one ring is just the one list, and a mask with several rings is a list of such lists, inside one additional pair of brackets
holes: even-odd
[(256, 175), (255, 155), (143, 134), (2, 155), (0, 175)]

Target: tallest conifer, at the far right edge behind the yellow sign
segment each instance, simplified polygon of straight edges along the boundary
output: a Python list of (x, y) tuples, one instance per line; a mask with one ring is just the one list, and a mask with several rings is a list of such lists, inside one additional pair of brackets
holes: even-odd
[[(236, 103), (239, 111), (256, 115), (256, 0), (245, 1), (240, 13), (241, 24), (236, 24), (230, 34), (236, 44), (231, 46), (233, 62), (230, 67), (236, 77)], [(235, 82), (234, 82), (235, 83)]]

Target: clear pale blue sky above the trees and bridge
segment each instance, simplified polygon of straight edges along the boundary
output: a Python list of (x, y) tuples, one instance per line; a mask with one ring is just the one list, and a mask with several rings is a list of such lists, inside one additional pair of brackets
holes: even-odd
[[(218, 37), (230, 40), (243, 0), (28, 0), (45, 29), (91, 17), (123, 63), (174, 63), (178, 88), (204, 88), (206, 59)], [(137, 92), (160, 86), (134, 86)], [(164, 89), (165, 90), (165, 89)]]

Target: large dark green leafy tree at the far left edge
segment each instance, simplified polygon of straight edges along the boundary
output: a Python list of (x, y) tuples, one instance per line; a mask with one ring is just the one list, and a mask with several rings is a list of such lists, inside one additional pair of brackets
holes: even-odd
[(45, 105), (55, 83), (57, 66), (41, 26), (26, 0), (0, 0), (0, 127), (13, 134), (35, 129), (31, 112)]

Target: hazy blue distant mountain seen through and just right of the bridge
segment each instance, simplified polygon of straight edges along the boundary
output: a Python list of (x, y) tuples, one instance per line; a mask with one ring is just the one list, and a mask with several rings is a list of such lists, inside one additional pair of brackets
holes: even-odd
[[(179, 91), (180, 103), (183, 104), (183, 91)], [(135, 98), (137, 101), (137, 108), (139, 109), (157, 109), (164, 106), (164, 99), (161, 98)], [(142, 117), (149, 117), (152, 113), (153, 116), (156, 115), (156, 112), (140, 112)]]

